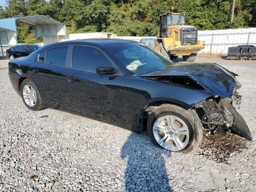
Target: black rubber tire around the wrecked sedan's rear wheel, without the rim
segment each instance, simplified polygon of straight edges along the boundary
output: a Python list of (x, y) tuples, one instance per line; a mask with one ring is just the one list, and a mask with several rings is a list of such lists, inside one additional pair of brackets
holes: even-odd
[[(24, 88), (25, 85), (31, 86), (31, 87), (34, 89), (35, 93), (36, 93), (36, 104), (35, 104), (35, 106), (29, 106), (29, 105), (26, 103), (25, 99), (24, 99), (24, 96), (23, 96), (23, 88)], [(21, 87), (20, 87), (20, 92), (21, 92), (22, 100), (23, 100), (25, 106), (26, 106), (28, 109), (33, 110), (33, 111), (39, 111), (39, 110), (42, 110), (42, 109), (44, 108), (44, 106), (43, 106), (43, 104), (42, 104), (42, 98), (41, 98), (41, 96), (40, 96), (40, 94), (39, 94), (39, 92), (38, 92), (36, 86), (34, 85), (34, 83), (33, 83), (30, 79), (25, 79), (25, 80), (22, 82)]]

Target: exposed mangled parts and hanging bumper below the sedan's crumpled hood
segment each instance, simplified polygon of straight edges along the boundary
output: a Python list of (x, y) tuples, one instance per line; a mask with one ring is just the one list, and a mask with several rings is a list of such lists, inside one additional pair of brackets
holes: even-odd
[(214, 96), (195, 105), (206, 136), (211, 133), (225, 135), (232, 132), (251, 140), (250, 130), (242, 116), (236, 111), (240, 107), (242, 96), (230, 98)]

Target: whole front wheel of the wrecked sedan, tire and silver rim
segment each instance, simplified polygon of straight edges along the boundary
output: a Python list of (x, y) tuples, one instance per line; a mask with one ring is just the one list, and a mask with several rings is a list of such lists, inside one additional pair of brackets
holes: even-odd
[(172, 104), (152, 111), (147, 130), (156, 146), (170, 151), (189, 153), (202, 143), (203, 127), (196, 112)]

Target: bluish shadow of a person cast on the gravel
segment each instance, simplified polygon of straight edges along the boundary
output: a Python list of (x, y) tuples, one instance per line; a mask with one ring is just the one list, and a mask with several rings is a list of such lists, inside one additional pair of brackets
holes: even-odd
[(172, 181), (168, 179), (163, 158), (166, 150), (153, 146), (148, 139), (145, 144), (142, 142), (141, 135), (132, 133), (121, 151), (122, 159), (128, 157), (125, 172), (126, 192), (137, 189), (144, 192), (173, 191), (169, 186)]

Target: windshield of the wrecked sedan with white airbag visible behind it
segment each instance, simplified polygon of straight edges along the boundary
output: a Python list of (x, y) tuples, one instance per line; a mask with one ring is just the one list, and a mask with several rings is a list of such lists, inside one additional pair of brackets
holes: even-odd
[(139, 43), (124, 43), (108, 46), (108, 50), (130, 72), (142, 73), (172, 64), (149, 47)]

